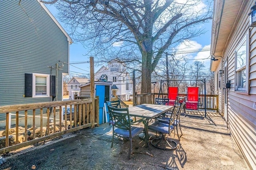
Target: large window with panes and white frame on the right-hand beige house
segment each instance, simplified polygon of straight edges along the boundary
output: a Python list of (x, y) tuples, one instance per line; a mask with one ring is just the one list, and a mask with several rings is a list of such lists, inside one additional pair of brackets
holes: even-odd
[(248, 34), (242, 39), (235, 51), (235, 90), (248, 92)]

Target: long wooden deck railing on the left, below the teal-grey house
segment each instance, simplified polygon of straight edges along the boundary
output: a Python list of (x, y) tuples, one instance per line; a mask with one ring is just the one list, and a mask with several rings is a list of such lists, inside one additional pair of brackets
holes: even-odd
[[(0, 154), (86, 127), (93, 128), (99, 124), (98, 107), (98, 98), (95, 113), (91, 111), (92, 98), (0, 106), (0, 114), (6, 114), (5, 142), (0, 143)], [(70, 108), (69, 114), (67, 108)]]

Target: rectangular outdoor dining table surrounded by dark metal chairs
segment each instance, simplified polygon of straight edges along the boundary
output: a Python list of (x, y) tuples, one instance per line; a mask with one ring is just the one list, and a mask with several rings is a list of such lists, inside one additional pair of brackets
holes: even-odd
[[(162, 113), (166, 113), (166, 111), (171, 110), (173, 106), (169, 105), (157, 105), (157, 104), (141, 104), (137, 106), (128, 107), (130, 116), (141, 117), (144, 118), (144, 129), (147, 133), (148, 131), (148, 122), (161, 115)], [(145, 134), (142, 133), (139, 135), (140, 138), (144, 139)], [(152, 139), (152, 137), (151, 137)]]

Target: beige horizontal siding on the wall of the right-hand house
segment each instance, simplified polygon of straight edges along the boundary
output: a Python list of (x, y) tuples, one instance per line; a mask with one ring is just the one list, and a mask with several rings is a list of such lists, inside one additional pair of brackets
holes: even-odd
[[(223, 51), (223, 63), (227, 63), (227, 79), (231, 88), (228, 90), (228, 120), (227, 125), (232, 139), (245, 158), (249, 169), (256, 169), (256, 28), (250, 27), (249, 54), (249, 92), (248, 94), (235, 91), (235, 49), (241, 39), (248, 33), (250, 8), (253, 1), (246, 2), (230, 33), (230, 39)], [(218, 70), (220, 67), (218, 67)], [(218, 72), (218, 71), (216, 71)], [(216, 78), (216, 75), (215, 75)], [(224, 82), (226, 83), (226, 82)], [(223, 110), (223, 109), (222, 109)]]

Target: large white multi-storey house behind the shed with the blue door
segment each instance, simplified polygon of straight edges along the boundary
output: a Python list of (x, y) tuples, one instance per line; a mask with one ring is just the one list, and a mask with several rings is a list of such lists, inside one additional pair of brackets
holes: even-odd
[(108, 62), (107, 66), (102, 66), (95, 73), (95, 81), (102, 80), (112, 82), (111, 96), (118, 96), (121, 100), (127, 101), (132, 95), (132, 78), (126, 72), (124, 63), (118, 59)]

